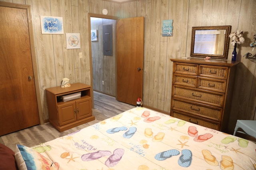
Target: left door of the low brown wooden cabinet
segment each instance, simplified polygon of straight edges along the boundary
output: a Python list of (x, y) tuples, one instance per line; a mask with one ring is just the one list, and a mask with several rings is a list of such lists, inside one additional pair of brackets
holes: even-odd
[(76, 103), (65, 102), (58, 105), (59, 125), (66, 125), (76, 121)]

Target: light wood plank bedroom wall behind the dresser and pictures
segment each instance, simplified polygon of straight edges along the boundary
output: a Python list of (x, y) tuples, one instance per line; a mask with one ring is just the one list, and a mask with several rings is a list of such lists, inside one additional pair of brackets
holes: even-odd
[[(237, 49), (241, 61), (236, 73), (229, 130), (236, 119), (255, 119), (256, 61), (245, 59), (252, 51), (250, 42), (256, 34), (256, 0), (135, 0), (114, 3), (104, 0), (2, 0), (31, 5), (38, 81), (41, 88), (44, 120), (48, 119), (44, 89), (57, 86), (64, 77), (70, 82), (90, 84), (88, 12), (120, 18), (145, 18), (143, 104), (170, 111), (172, 63), (170, 58), (190, 56), (192, 26), (232, 25), (232, 31), (244, 30), (246, 42)], [(64, 35), (42, 35), (40, 15), (61, 16)], [(173, 36), (162, 37), (162, 20), (173, 19)], [(67, 50), (65, 33), (80, 33), (81, 49)], [(230, 45), (228, 60), (233, 47)], [(79, 59), (78, 53), (83, 53)]]

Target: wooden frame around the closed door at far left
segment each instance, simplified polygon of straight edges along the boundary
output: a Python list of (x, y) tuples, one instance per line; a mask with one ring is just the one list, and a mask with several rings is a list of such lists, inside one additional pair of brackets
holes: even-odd
[(30, 39), (30, 50), (31, 50), (31, 58), (32, 58), (32, 66), (34, 72), (34, 83), (36, 88), (36, 99), (37, 99), (37, 106), (38, 106), (38, 113), (40, 124), (44, 124), (44, 115), (43, 115), (43, 105), (42, 105), (42, 98), (40, 98), (40, 85), (39, 85), (39, 71), (38, 71), (38, 64), (36, 60), (36, 51), (35, 51), (35, 43), (34, 43), (34, 32), (32, 27), (32, 16), (30, 5), (23, 5), (23, 4), (14, 4), (9, 2), (0, 2), (0, 6), (9, 7), (9, 8), (18, 8), (24, 9), (27, 12), (28, 18), (28, 33)]

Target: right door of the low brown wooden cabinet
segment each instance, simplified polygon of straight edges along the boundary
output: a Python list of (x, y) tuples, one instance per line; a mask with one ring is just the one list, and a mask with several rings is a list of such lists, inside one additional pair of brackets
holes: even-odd
[(86, 118), (92, 115), (91, 98), (81, 99), (76, 101), (76, 117), (77, 120)]

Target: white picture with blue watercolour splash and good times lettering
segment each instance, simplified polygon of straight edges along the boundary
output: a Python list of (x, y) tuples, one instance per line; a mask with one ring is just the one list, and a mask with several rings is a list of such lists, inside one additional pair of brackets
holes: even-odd
[(40, 16), (42, 34), (64, 34), (63, 18)]

